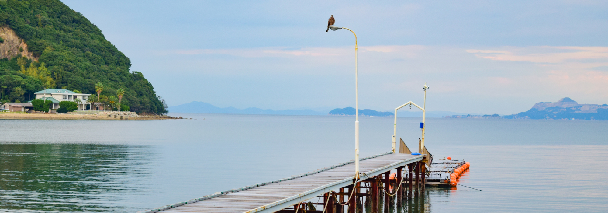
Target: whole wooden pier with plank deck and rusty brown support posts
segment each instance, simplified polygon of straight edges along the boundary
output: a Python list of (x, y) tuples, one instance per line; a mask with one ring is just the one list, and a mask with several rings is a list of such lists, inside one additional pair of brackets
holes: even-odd
[(378, 213), (424, 191), (427, 157), (390, 152), (362, 158), (359, 177), (349, 161), (140, 212), (359, 213), (367, 206)]

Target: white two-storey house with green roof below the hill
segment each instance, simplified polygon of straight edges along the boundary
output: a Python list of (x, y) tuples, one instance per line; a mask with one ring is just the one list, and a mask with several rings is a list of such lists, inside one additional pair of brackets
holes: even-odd
[(80, 99), (81, 101), (81, 103), (78, 103), (78, 110), (86, 110), (87, 106), (89, 106), (89, 109), (91, 108), (91, 104), (86, 102), (86, 100), (88, 100), (91, 94), (74, 93), (67, 89), (44, 89), (34, 94), (36, 95), (36, 99), (42, 99), (46, 97), (46, 100), (52, 100), (52, 110), (57, 110), (59, 108), (59, 102), (73, 102), (74, 99)]

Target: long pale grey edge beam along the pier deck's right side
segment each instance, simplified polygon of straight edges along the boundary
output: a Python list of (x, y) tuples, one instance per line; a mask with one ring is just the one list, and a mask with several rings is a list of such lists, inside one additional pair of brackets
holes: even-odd
[[(363, 172), (357, 182), (361, 182), (367, 180), (369, 177), (378, 176), (382, 173), (389, 172), (390, 170), (396, 169), (397, 167), (406, 166), (407, 164), (411, 164), (412, 162), (418, 162), (423, 159), (423, 155), (418, 155), (410, 159), (406, 159), (401, 162), (395, 162), (388, 166), (380, 167), (375, 170), (371, 170), (370, 172)], [(282, 209), (288, 208), (290, 206), (294, 206), (295, 204), (302, 203), (303, 201), (315, 198), (317, 196), (323, 195), (325, 193), (331, 191), (337, 191), (340, 188), (350, 186), (354, 184), (355, 177), (347, 178), (341, 181), (337, 181), (331, 184), (327, 184), (325, 186), (318, 187), (313, 190), (309, 190), (299, 195), (294, 195), (292, 197), (285, 198), (283, 200), (276, 201), (274, 203), (270, 203), (264, 206), (260, 206), (258, 208), (252, 209), (250, 211), (246, 211), (243, 213), (272, 213), (277, 212)]]

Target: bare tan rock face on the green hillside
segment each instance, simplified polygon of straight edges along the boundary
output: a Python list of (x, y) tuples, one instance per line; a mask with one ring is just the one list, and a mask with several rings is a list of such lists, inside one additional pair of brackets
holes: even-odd
[(8, 26), (0, 26), (0, 38), (4, 41), (0, 43), (0, 58), (11, 58), (22, 55), (31, 60), (38, 61), (32, 52), (27, 51), (26, 42), (19, 38), (13, 29)]

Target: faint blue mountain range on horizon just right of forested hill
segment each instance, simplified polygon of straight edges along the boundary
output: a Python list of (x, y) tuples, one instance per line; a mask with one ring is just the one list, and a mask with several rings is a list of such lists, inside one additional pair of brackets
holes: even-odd
[(219, 108), (210, 103), (205, 102), (190, 102), (182, 105), (170, 106), (171, 113), (224, 113), (224, 114), (292, 114), (306, 116), (322, 116), (325, 113), (319, 113), (313, 110), (262, 110), (260, 108), (250, 107), (244, 110), (234, 108), (232, 106)]

